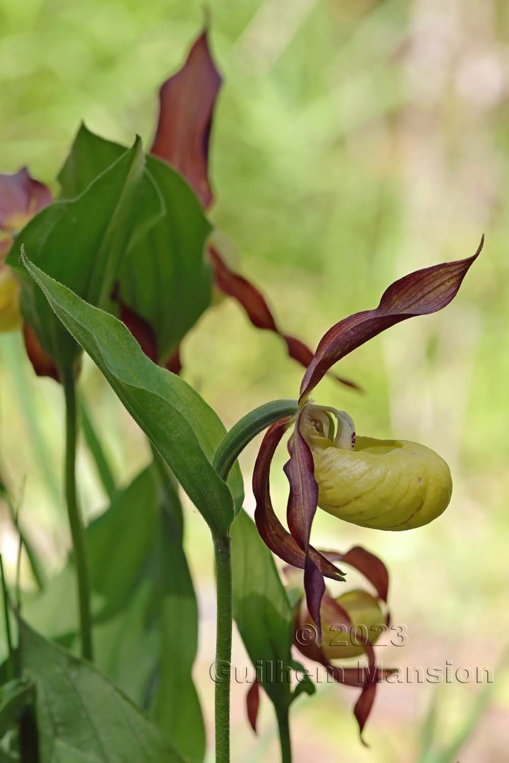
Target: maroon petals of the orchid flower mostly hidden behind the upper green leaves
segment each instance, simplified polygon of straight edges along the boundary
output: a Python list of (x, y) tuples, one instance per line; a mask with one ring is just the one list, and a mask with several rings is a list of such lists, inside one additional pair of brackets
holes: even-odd
[[(205, 210), (214, 198), (208, 179), (208, 149), (214, 106), (220, 88), (221, 75), (212, 59), (205, 30), (193, 43), (182, 69), (169, 77), (159, 91), (159, 120), (150, 150), (183, 175)], [(214, 270), (217, 290), (236, 299), (253, 326), (281, 336), (288, 355), (307, 368), (313, 357), (311, 349), (295, 336), (283, 333), (275, 323), (266, 298), (243, 275), (230, 269), (227, 256), (221, 251), (221, 237), (213, 234), (207, 254)], [(154, 352), (156, 333), (153, 327), (141, 318), (137, 320), (130, 307), (120, 300), (119, 303), (121, 320), (143, 349), (148, 347)], [(151, 338), (147, 340), (149, 335)], [(152, 355), (149, 356), (154, 359)], [(180, 362), (176, 362), (178, 356), (177, 348), (175, 355), (166, 363), (166, 368), (180, 369)], [(357, 388), (352, 381), (337, 379)]]

